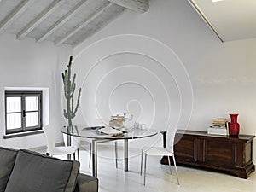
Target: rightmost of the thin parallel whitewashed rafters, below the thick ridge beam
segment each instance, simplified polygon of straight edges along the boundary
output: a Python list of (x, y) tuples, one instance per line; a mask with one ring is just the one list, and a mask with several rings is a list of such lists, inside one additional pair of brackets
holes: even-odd
[(79, 32), (79, 30), (81, 30), (82, 28), (84, 28), (84, 26), (87, 26), (91, 20), (94, 20), (98, 15), (101, 15), (102, 12), (106, 9), (108, 9), (109, 7), (111, 7), (113, 5), (113, 3), (104, 3), (102, 5), (101, 8), (96, 9), (96, 11), (94, 13), (92, 13), (88, 19), (84, 20), (84, 22), (82, 22), (79, 26), (76, 26), (74, 29), (72, 29), (70, 32), (67, 32), (67, 35), (65, 35), (64, 37), (58, 39), (55, 42), (55, 45), (60, 45), (63, 42), (65, 42), (68, 38), (71, 38), (73, 36), (73, 34), (75, 34), (76, 32)]

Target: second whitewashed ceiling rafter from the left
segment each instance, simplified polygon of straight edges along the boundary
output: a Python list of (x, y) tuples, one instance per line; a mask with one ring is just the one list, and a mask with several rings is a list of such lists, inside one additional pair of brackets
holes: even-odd
[(43, 22), (49, 15), (51, 15), (55, 9), (58, 9), (61, 5), (62, 0), (55, 0), (53, 3), (44, 9), (35, 19), (33, 19), (30, 23), (28, 23), (20, 32), (18, 32), (16, 38), (25, 38), (29, 32), (37, 27), (41, 22)]

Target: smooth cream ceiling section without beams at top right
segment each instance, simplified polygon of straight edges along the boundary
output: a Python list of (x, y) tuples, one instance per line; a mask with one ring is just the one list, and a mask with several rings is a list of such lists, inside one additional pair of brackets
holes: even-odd
[(188, 0), (221, 41), (256, 38), (256, 0)]

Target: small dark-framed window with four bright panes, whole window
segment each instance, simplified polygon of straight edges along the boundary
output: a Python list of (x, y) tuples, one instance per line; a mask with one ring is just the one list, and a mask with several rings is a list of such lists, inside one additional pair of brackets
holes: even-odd
[(6, 134), (42, 129), (42, 91), (5, 91)]

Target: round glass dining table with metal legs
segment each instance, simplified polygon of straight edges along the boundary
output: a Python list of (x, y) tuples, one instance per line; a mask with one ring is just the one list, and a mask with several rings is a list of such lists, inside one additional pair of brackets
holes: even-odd
[[(109, 127), (108, 127), (109, 128)], [(113, 128), (113, 131), (106, 133), (104, 126), (81, 126), (73, 125), (61, 127), (61, 132), (67, 134), (67, 145), (70, 145), (70, 137), (84, 137), (91, 139), (92, 148), (92, 175), (97, 177), (97, 143), (105, 143), (113, 140), (123, 140), (124, 141), (124, 160), (125, 160), (125, 172), (128, 171), (128, 141), (131, 139), (139, 139), (145, 137), (153, 137), (157, 135), (158, 131), (154, 129), (117, 129)]]

